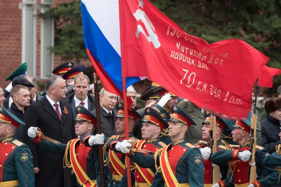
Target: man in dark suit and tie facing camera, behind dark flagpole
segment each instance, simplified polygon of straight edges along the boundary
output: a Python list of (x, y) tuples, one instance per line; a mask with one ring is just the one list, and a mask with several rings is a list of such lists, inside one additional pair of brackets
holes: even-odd
[(85, 74), (78, 74), (74, 78), (74, 92), (68, 94), (65, 99), (65, 102), (71, 105), (73, 115), (76, 117), (75, 109), (77, 106), (84, 106), (89, 111), (93, 111), (96, 109), (96, 101), (95, 97), (88, 94), (90, 85), (89, 85), (89, 77)]

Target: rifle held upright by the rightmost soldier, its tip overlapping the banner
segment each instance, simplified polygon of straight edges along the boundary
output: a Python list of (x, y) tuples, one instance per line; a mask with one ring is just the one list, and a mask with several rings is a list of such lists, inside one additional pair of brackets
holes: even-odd
[(250, 179), (249, 183), (253, 183), (256, 180), (256, 166), (254, 164), (255, 162), (255, 145), (256, 145), (256, 98), (257, 94), (259, 93), (260, 86), (255, 87), (255, 95), (254, 95), (254, 103), (252, 106), (252, 116), (251, 116), (251, 132), (250, 132), (250, 148), (249, 151), (252, 153), (251, 155), (251, 161), (250, 161)]

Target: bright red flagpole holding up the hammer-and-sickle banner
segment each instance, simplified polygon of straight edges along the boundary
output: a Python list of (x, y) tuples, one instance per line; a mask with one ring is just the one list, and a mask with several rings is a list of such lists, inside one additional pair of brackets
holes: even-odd
[[(122, 86), (123, 86), (123, 102), (124, 102), (124, 122), (125, 122), (125, 139), (129, 140), (129, 128), (128, 128), (128, 103), (127, 103), (127, 91), (126, 91), (126, 78), (122, 77)], [(125, 159), (127, 167), (127, 183), (128, 187), (131, 187), (131, 162), (130, 158), (127, 156)]]

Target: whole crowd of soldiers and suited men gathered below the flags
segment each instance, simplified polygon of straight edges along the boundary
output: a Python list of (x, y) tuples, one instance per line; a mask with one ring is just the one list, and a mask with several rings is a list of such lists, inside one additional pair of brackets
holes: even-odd
[(128, 175), (131, 186), (281, 186), (281, 86), (257, 117), (253, 144), (252, 111), (224, 119), (161, 86), (142, 94), (142, 109), (128, 87), (131, 110), (102, 88), (97, 110), (83, 65), (56, 67), (42, 95), (26, 71), (20, 65), (0, 87), (0, 186), (101, 186), (102, 178), (105, 186), (128, 186)]

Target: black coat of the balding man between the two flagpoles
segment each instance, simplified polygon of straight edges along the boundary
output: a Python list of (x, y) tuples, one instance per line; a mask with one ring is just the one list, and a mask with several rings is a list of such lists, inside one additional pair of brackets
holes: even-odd
[[(102, 127), (102, 133), (104, 133), (105, 137), (111, 137), (112, 135), (116, 135), (116, 129), (115, 129), (115, 113), (113, 110), (112, 117), (108, 115), (108, 113), (100, 106), (100, 113), (101, 113), (101, 127)], [(95, 117), (96, 115), (96, 109), (91, 112)]]

